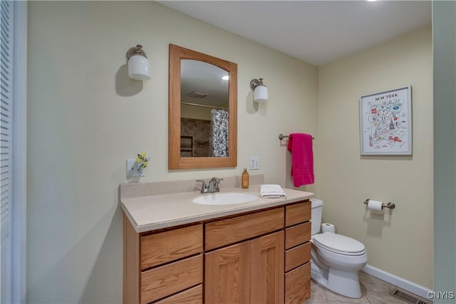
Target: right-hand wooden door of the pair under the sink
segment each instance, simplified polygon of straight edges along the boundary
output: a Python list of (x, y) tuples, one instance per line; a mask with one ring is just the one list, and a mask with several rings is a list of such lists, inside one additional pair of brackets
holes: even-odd
[(251, 243), (250, 303), (284, 303), (284, 231)]

